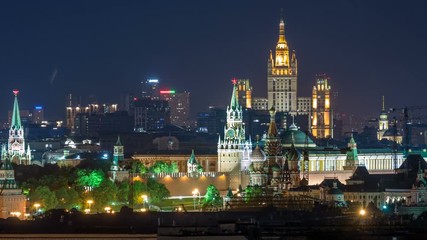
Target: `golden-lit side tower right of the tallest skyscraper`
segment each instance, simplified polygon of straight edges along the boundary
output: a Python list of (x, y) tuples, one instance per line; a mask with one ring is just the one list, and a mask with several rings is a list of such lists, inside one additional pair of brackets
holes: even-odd
[(316, 138), (333, 137), (330, 78), (324, 74), (316, 76), (312, 95), (311, 134)]

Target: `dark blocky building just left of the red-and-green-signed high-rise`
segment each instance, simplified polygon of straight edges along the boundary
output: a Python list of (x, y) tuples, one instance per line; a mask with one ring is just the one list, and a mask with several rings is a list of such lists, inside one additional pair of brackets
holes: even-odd
[(134, 130), (156, 131), (170, 123), (170, 108), (166, 100), (141, 98), (134, 102)]

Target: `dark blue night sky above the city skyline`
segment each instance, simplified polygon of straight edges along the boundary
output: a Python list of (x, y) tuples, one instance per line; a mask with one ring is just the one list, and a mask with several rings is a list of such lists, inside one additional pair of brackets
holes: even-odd
[(66, 93), (118, 102), (146, 78), (190, 91), (193, 115), (228, 104), (234, 77), (265, 97), (281, 8), (299, 96), (326, 73), (340, 112), (376, 117), (381, 95), (427, 105), (427, 1), (1, 1), (0, 120), (14, 88), (48, 118), (65, 116)]

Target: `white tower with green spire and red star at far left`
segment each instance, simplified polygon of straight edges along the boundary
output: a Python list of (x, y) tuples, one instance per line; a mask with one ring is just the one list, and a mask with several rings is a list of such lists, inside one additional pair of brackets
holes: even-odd
[(18, 90), (13, 90), (15, 100), (13, 103), (12, 121), (9, 129), (9, 141), (7, 154), (2, 154), (3, 161), (9, 159), (16, 164), (31, 164), (31, 150), (28, 147), (25, 149), (24, 128), (21, 124), (21, 116), (18, 105)]

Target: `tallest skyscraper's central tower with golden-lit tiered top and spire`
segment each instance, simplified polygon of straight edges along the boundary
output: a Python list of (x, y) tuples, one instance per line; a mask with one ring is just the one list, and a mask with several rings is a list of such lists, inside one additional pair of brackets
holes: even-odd
[(295, 51), (290, 54), (285, 38), (285, 22), (279, 24), (279, 39), (273, 54), (268, 59), (268, 108), (274, 107), (277, 112), (297, 111), (297, 58)]

